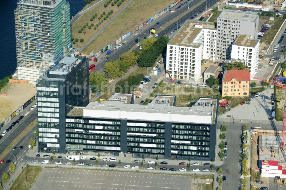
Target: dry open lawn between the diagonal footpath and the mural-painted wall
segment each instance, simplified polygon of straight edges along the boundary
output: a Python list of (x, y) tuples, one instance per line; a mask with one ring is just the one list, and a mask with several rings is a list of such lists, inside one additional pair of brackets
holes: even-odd
[[(124, 3), (121, 6), (124, 6)], [(89, 54), (92, 50), (94, 50), (94, 52), (98, 52), (103, 48), (103, 46), (112, 43), (149, 19), (152, 15), (155, 15), (159, 11), (168, 7), (170, 3), (174, 3), (174, 0), (134, 0), (100, 35), (96, 37), (96, 39), (94, 39), (92, 43), (90, 43), (90, 45), (88, 45), (88, 47), (83, 50), (83, 52), (86, 54)], [(113, 8), (114, 12), (116, 9), (118, 8)], [(93, 13), (91, 15), (93, 15)], [(115, 13), (112, 15), (115, 15)], [(88, 17), (88, 21), (89, 18), (90, 17)], [(81, 22), (80, 26), (83, 25), (83, 23), (86, 22)], [(76, 32), (78, 32), (78, 30), (76, 30)], [(88, 32), (86, 32), (86, 35), (87, 33)], [(148, 34), (146, 34), (146, 36), (148, 36)], [(126, 39), (124, 39), (124, 41), (125, 40)]]

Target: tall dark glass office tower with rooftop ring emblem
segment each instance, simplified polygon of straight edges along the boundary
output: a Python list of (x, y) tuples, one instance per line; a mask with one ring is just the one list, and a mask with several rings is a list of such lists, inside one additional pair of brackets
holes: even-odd
[(65, 116), (88, 105), (88, 84), (85, 56), (65, 56), (37, 80), (39, 152), (66, 152)]

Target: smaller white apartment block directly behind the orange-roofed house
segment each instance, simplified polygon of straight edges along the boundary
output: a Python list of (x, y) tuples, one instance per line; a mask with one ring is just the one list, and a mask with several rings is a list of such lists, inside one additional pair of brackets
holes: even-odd
[(244, 60), (243, 62), (250, 70), (250, 75), (254, 76), (258, 71), (259, 40), (250, 38), (251, 35), (245, 34), (239, 34), (236, 37), (231, 47), (231, 58)]

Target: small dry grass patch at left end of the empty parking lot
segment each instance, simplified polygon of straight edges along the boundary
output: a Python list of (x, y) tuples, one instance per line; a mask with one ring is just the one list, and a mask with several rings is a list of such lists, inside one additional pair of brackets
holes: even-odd
[(22, 190), (25, 189), (24, 177), (26, 177), (26, 189), (31, 189), (37, 177), (40, 175), (43, 169), (41, 167), (27, 166), (25, 169), (26, 175), (24, 176), (24, 169), (13, 182), (10, 189)]

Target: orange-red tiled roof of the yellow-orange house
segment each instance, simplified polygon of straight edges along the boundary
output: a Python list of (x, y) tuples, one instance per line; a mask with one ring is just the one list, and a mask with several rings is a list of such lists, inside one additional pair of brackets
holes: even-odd
[(237, 70), (237, 68), (225, 70), (223, 82), (230, 82), (232, 79), (236, 79), (237, 81), (250, 81), (249, 70)]

